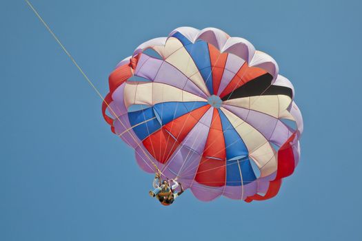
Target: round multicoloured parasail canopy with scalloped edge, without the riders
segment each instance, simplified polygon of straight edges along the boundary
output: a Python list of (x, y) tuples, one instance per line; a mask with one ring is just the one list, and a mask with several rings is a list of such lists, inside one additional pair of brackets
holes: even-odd
[(293, 173), (303, 132), (292, 83), (278, 72), (245, 39), (177, 28), (117, 65), (103, 116), (144, 171), (156, 165), (199, 200), (265, 200)]

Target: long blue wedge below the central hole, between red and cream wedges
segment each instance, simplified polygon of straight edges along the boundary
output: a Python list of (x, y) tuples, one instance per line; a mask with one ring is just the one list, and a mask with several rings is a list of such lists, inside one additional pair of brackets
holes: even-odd
[(223, 126), (223, 136), (225, 139), (226, 160), (233, 158), (241, 158), (249, 155), (248, 148), (246, 147), (243, 139), (239, 136), (234, 129), (228, 118), (223, 114), (221, 109), (217, 109), (221, 118), (221, 125)]

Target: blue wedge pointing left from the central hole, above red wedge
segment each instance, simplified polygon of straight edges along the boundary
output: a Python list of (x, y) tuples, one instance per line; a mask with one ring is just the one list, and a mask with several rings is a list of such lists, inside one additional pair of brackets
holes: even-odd
[(207, 105), (207, 102), (163, 102), (154, 105), (154, 114), (161, 125), (170, 123), (176, 118), (192, 112), (192, 110)]

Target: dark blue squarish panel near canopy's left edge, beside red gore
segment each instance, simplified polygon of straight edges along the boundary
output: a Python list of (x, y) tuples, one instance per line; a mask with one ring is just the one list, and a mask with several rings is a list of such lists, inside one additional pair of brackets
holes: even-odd
[(137, 112), (128, 112), (128, 120), (132, 127), (137, 125), (133, 127), (133, 131), (140, 140), (145, 139), (161, 128), (152, 107)]

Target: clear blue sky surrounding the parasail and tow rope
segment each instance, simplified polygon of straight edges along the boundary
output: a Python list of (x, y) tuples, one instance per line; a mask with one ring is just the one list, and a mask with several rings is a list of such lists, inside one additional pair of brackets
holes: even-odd
[(139, 43), (220, 28), (294, 84), (301, 162), (272, 200), (159, 205), (77, 68), (24, 1), (1, 1), (0, 240), (362, 240), (361, 1), (94, 2), (32, 1), (103, 95)]

